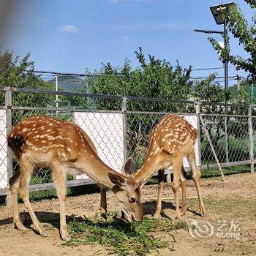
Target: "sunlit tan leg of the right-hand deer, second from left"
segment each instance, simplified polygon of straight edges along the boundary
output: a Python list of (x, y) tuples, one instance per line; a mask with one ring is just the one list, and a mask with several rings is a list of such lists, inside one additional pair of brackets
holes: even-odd
[(178, 187), (179, 187), (179, 181), (181, 178), (181, 167), (182, 167), (182, 156), (176, 156), (173, 158), (173, 184), (172, 189), (175, 197), (175, 220), (178, 221), (181, 217), (181, 213), (179, 211), (178, 206)]

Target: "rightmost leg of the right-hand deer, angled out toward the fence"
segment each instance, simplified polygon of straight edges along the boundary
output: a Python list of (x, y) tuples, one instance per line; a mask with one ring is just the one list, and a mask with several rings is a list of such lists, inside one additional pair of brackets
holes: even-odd
[(202, 192), (201, 192), (201, 188), (200, 188), (201, 172), (197, 168), (196, 163), (195, 163), (195, 150), (194, 150), (194, 148), (192, 149), (192, 151), (189, 152), (189, 154), (187, 155), (187, 158), (189, 160), (189, 165), (192, 168), (192, 179), (195, 182), (195, 186), (197, 188), (200, 214), (202, 216), (205, 216), (206, 215), (206, 208), (205, 208), (204, 203), (203, 203)]

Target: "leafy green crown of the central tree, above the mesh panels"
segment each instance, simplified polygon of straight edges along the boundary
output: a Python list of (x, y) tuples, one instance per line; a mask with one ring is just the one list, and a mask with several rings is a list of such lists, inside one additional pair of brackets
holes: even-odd
[[(140, 67), (132, 70), (130, 61), (125, 60), (124, 66), (115, 68), (103, 64), (99, 74), (91, 80), (90, 91), (94, 94), (113, 94), (135, 97), (151, 97), (165, 99), (187, 99), (192, 82), (189, 80), (192, 67), (183, 69), (178, 63), (175, 67), (165, 60), (156, 59), (149, 55), (146, 57), (141, 48), (135, 51)], [(90, 73), (87, 73), (90, 77)], [(117, 100), (97, 101), (99, 108), (120, 109), (121, 103)], [(170, 110), (170, 104), (149, 104), (148, 102), (129, 102), (129, 110)]]

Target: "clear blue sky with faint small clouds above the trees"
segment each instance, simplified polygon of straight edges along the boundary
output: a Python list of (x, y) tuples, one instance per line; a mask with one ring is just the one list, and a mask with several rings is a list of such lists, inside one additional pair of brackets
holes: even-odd
[[(7, 1), (7, 0), (5, 0)], [(194, 29), (222, 30), (208, 7), (215, 0), (19, 0), (9, 20), (9, 33), (0, 42), (4, 49), (24, 56), (31, 53), (35, 69), (58, 72), (91, 72), (110, 61), (121, 66), (125, 58), (138, 67), (134, 51), (183, 67), (222, 67), (207, 34)], [(236, 1), (245, 18), (252, 10)], [(214, 35), (219, 41), (221, 37)], [(236, 41), (233, 53), (244, 54)], [(224, 70), (220, 69), (219, 75)], [(236, 70), (230, 67), (230, 75)], [(193, 72), (206, 76), (210, 72)], [(245, 75), (240, 72), (241, 75)]]

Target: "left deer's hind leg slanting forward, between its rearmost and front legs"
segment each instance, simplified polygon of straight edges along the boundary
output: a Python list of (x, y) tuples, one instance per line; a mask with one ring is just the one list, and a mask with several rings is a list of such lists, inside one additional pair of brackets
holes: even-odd
[(48, 233), (40, 225), (36, 214), (34, 214), (33, 208), (29, 201), (29, 182), (34, 171), (34, 165), (29, 162), (28, 159), (20, 159), (20, 196), (29, 211), (30, 217), (34, 224), (34, 229), (37, 230), (40, 236), (49, 236)]

